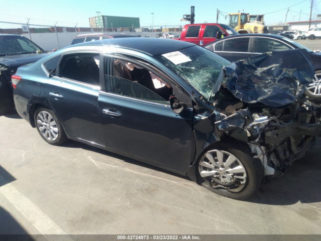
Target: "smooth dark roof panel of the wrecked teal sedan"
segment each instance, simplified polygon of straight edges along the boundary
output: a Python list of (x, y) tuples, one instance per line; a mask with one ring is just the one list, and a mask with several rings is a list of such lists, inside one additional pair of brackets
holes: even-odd
[[(156, 56), (159, 54), (170, 53), (185, 49), (195, 44), (173, 39), (160, 39), (160, 38), (115, 38), (103, 39), (97, 41), (84, 42), (76, 45), (80, 46), (114, 46), (118, 48), (125, 48), (143, 52), (145, 54)], [(72, 48), (67, 47), (65, 49)]]

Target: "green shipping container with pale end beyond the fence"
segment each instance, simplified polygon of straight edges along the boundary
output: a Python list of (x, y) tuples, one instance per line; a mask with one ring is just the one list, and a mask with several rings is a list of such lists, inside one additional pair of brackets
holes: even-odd
[(139, 18), (95, 16), (89, 18), (90, 28), (140, 28)]

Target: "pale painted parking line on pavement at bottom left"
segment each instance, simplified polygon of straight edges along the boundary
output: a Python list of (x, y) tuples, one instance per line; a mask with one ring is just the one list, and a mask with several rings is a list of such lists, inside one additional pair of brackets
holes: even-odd
[[(0, 175), (0, 182), (6, 179)], [(66, 234), (50, 217), (10, 183), (0, 187), (2, 193), (41, 234)]]

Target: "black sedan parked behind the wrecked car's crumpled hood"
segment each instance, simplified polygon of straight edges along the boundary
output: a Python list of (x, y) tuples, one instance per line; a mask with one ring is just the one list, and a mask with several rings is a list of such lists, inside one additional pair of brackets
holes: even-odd
[(229, 61), (250, 58), (270, 51), (304, 49), (308, 52), (315, 75), (305, 94), (321, 99), (321, 54), (288, 38), (272, 34), (242, 34), (216, 40), (205, 48), (215, 52)]

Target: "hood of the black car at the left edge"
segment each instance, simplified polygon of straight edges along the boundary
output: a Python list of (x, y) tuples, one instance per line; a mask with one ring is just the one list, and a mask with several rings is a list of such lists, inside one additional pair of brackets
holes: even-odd
[(0, 56), (0, 64), (6, 65), (9, 68), (18, 68), (19, 66), (33, 63), (39, 59), (45, 57), (47, 54), (18, 54), (18, 55), (8, 55)]

